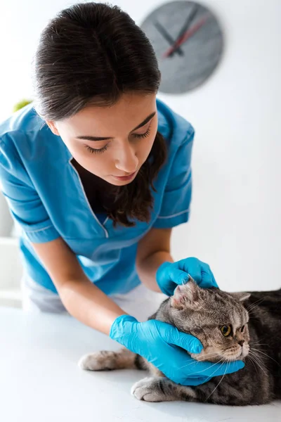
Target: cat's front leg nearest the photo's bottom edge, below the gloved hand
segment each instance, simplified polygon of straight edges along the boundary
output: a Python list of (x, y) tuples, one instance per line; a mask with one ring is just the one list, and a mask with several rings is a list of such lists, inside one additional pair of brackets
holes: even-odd
[(199, 401), (193, 387), (176, 384), (166, 377), (143, 378), (133, 385), (131, 394), (145, 402)]

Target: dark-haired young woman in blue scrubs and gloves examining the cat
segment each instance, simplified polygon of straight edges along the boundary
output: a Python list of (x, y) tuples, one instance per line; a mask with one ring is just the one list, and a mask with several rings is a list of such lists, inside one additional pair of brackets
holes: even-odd
[(33, 65), (34, 103), (0, 125), (24, 309), (69, 312), (184, 385), (241, 369), (198, 363), (185, 351), (197, 338), (145, 321), (188, 274), (217, 287), (209, 265), (170, 254), (171, 228), (188, 221), (194, 129), (156, 98), (148, 38), (117, 6), (75, 4), (45, 27)]

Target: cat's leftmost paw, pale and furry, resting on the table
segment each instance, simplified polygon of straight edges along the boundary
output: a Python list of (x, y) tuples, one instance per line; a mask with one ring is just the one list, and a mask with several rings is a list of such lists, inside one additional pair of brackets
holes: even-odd
[(79, 359), (78, 366), (87, 371), (111, 371), (116, 368), (115, 352), (103, 350), (85, 354)]

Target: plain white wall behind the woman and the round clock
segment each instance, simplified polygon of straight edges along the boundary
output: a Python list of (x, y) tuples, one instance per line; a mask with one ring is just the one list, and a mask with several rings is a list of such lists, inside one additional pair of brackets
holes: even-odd
[[(0, 118), (32, 93), (30, 60), (48, 19), (74, 2), (1, 6)], [(162, 1), (111, 1), (136, 23)], [(204, 86), (159, 98), (196, 129), (190, 222), (174, 229), (174, 258), (208, 262), (225, 290), (281, 286), (280, 0), (202, 0), (226, 32), (226, 52)], [(4, 11), (3, 11), (4, 6)]]

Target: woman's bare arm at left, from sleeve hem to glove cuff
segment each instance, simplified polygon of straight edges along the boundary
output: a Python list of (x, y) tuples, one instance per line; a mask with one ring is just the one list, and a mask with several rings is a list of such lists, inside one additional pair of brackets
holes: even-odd
[(112, 322), (126, 312), (91, 283), (63, 238), (32, 245), (67, 311), (83, 324), (109, 334)]

